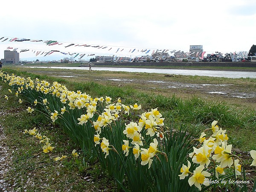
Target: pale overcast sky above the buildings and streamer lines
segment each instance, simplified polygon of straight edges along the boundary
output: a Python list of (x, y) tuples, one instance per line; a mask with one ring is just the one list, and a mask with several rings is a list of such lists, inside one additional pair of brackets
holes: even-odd
[[(134, 57), (145, 55), (142, 49), (151, 49), (149, 55), (156, 49), (187, 52), (189, 45), (203, 45), (207, 53), (249, 51), (256, 44), (255, 29), (256, 0), (5, 0), (0, 58), (7, 47), (29, 49), (20, 52), (20, 60), (40, 61), (71, 57), (60, 52), (85, 54), (82, 59)], [(12, 38), (43, 41), (10, 42)], [(46, 45), (49, 40), (61, 45)], [(65, 47), (69, 44), (107, 48)], [(60, 52), (41, 55), (50, 50)], [(90, 54), (95, 55), (87, 57)]]

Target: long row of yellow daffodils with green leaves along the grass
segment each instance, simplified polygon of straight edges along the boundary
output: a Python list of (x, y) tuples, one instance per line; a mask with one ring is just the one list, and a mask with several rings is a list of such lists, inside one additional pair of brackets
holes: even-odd
[[(49, 84), (3, 72), (0, 78), (15, 96), (22, 95), (19, 102), (26, 99), (31, 103), (28, 113), (40, 111), (61, 125), (85, 156), (99, 160), (125, 191), (247, 190), (250, 180), (246, 180), (243, 161), (232, 154), (226, 130), (217, 121), (201, 136), (189, 134), (182, 126), (164, 125), (157, 108), (141, 114), (137, 103), (124, 105), (120, 98), (108, 96), (93, 98), (58, 82)], [(44, 152), (52, 151), (49, 140), (43, 139)], [(256, 166), (256, 151), (250, 155), (251, 166)], [(225, 186), (230, 179), (233, 185)]]

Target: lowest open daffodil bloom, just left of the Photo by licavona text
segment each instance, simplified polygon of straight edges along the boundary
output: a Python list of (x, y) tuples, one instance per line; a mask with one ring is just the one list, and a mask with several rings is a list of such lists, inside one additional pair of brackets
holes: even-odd
[(203, 171), (204, 166), (199, 166), (195, 169), (192, 177), (189, 178), (189, 185), (195, 185), (200, 191), (201, 191), (201, 184), (204, 184), (205, 186), (209, 185), (209, 180), (205, 177), (211, 176), (210, 173)]

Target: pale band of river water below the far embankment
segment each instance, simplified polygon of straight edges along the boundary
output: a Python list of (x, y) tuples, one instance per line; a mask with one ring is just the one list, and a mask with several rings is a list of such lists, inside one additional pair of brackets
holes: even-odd
[[(32, 67), (32, 68), (50, 68), (50, 69), (72, 69), (89, 70), (89, 67)], [(169, 75), (185, 76), (209, 76), (209, 77), (227, 77), (227, 78), (256, 78), (256, 72), (242, 71), (215, 71), (215, 70), (178, 70), (178, 69), (147, 69), (147, 68), (122, 68), (122, 67), (92, 67), (92, 70), (101, 71), (125, 71), (139, 73), (161, 73)]]

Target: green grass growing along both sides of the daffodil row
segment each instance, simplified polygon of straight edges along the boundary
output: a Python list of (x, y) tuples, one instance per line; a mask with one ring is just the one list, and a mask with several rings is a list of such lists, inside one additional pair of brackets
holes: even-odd
[[(131, 86), (113, 87), (111, 85), (102, 85), (95, 81), (74, 82), (52, 76), (27, 73), (21, 70), (9, 69), (6, 71), (19, 76), (30, 76), (32, 79), (39, 78), (50, 82), (58, 81), (61, 84), (66, 84), (69, 90), (85, 91), (92, 96), (111, 96), (114, 99), (121, 97), (123, 103), (132, 104), (137, 102), (143, 106), (144, 110), (158, 108), (163, 117), (166, 118), (166, 125), (175, 121), (188, 126), (191, 132), (209, 128), (212, 120), (218, 120), (218, 125), (223, 129), (227, 129), (227, 134), (230, 137), (229, 144), (233, 144), (234, 147), (240, 148), (242, 151), (256, 149), (256, 111), (253, 109), (242, 110), (225, 102), (209, 102), (198, 97), (182, 99), (175, 95), (162, 96), (139, 92)], [(217, 79), (216, 81), (222, 80), (224, 81), (224, 79)], [(245, 84), (251, 83), (251, 79), (242, 80)], [(252, 81), (254, 83), (254, 80)], [(61, 156), (61, 154), (70, 154), (73, 149), (79, 149), (79, 146), (68, 139), (60, 127), (52, 125), (40, 113), (36, 113), (32, 118), (27, 116), (27, 103), (20, 105), (17, 102), (18, 98), (8, 92), (8, 85), (1, 81), (0, 86), (3, 86), (0, 92), (0, 110), (6, 113), (6, 115), (0, 117), (0, 125), (5, 129), (6, 144), (11, 146), (10, 150), (15, 151), (13, 155), (17, 159), (13, 166), (15, 169), (9, 172), (7, 178), (11, 183), (17, 183), (16, 189), (28, 189), (29, 191), (38, 191), (38, 188), (42, 191), (66, 191), (68, 189), (72, 191), (117, 190), (113, 179), (100, 168), (99, 163), (83, 159), (83, 154), (80, 154), (79, 160), (69, 159), (43, 166), (40, 169), (37, 168), (36, 166), (41, 165), (42, 161), (45, 164), (51, 163), (52, 158)], [(4, 95), (10, 96), (8, 101), (4, 99)], [(17, 108), (19, 113), (16, 112)], [(15, 119), (21, 120), (14, 121)], [(41, 145), (36, 143), (35, 139), (22, 134), (25, 128), (32, 129), (35, 126), (40, 128), (42, 134), (52, 139), (56, 147), (56, 156), (55, 154), (40, 154), (28, 161), (25, 161), (26, 158), (25, 160), (21, 158), (30, 157), (42, 151)], [(18, 173), (17, 176), (15, 175), (16, 173)], [(59, 175), (56, 175), (56, 173), (59, 173)], [(29, 174), (32, 178), (30, 178)], [(34, 186), (31, 186), (34, 188), (29, 188), (30, 186), (26, 184), (33, 182), (43, 184), (34, 184)], [(44, 183), (46, 183), (46, 186)], [(71, 189), (71, 186), (75, 188)]]

